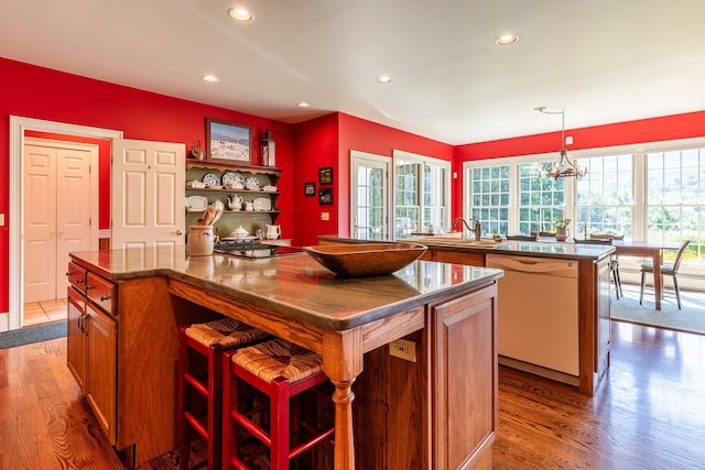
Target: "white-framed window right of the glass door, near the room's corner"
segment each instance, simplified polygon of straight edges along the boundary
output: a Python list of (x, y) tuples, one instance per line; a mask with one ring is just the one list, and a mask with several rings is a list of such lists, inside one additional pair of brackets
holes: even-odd
[(394, 233), (449, 226), (451, 163), (394, 151)]

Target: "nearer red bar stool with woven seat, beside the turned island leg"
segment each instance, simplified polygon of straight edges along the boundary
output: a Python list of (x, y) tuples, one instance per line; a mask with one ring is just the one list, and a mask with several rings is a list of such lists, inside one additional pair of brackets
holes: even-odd
[[(289, 470), (292, 459), (321, 442), (333, 445), (330, 436), (335, 428), (318, 430), (300, 420), (295, 401), (291, 398), (314, 387), (328, 378), (323, 373), (323, 358), (304, 348), (282, 339), (272, 339), (259, 345), (229, 351), (224, 354), (224, 468), (247, 469), (247, 462), (270, 449), (272, 470)], [(269, 433), (257, 420), (267, 406), (243, 409), (238, 401), (240, 381), (269, 397)], [(326, 398), (332, 403), (330, 395)], [(290, 412), (291, 406), (291, 412)], [(240, 458), (238, 433), (243, 428), (263, 444)], [(306, 430), (312, 438), (295, 444), (291, 440)], [(294, 439), (291, 439), (291, 438)], [(296, 439), (301, 440), (301, 439)], [(242, 452), (245, 453), (245, 452)]]

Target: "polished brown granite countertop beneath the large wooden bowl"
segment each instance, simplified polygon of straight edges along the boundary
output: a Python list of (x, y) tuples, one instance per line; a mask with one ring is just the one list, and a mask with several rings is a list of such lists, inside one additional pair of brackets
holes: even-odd
[(186, 247), (75, 252), (74, 261), (113, 282), (183, 280), (291, 318), (343, 330), (490, 283), (501, 270), (415, 261), (388, 276), (339, 278), (307, 254), (240, 259), (188, 256)]

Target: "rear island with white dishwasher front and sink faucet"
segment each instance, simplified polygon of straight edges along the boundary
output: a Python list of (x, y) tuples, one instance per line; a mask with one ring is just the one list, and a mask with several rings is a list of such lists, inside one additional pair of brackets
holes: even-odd
[[(459, 233), (458, 233), (459, 234)], [(368, 240), (318, 237), (322, 243)], [(506, 271), (499, 281), (499, 363), (575, 385), (592, 395), (609, 368), (609, 260), (615, 248), (543, 241), (477, 242), (456, 237), (423, 243), (423, 259)]]

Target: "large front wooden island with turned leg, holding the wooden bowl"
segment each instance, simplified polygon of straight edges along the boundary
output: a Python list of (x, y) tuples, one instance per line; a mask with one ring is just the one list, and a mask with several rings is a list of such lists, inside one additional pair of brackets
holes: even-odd
[[(94, 281), (79, 282), (82, 273)], [(489, 469), (501, 276), (416, 261), (394, 275), (341, 280), (305, 254), (189, 258), (183, 247), (72, 253), (72, 284), (105, 287), (86, 285), (79, 302), (86, 311), (105, 307), (104, 324), (113, 324), (99, 329), (113, 339), (112, 356), (109, 342), (88, 340), (98, 346), (87, 353), (100, 353), (87, 367), (99, 361), (94, 375), (107, 379), (86, 396), (132, 464), (172, 450), (177, 329), (224, 315), (323, 356), (335, 385), (336, 469)], [(69, 306), (74, 371), (70, 317)], [(405, 359), (391, 356), (398, 339)]]

